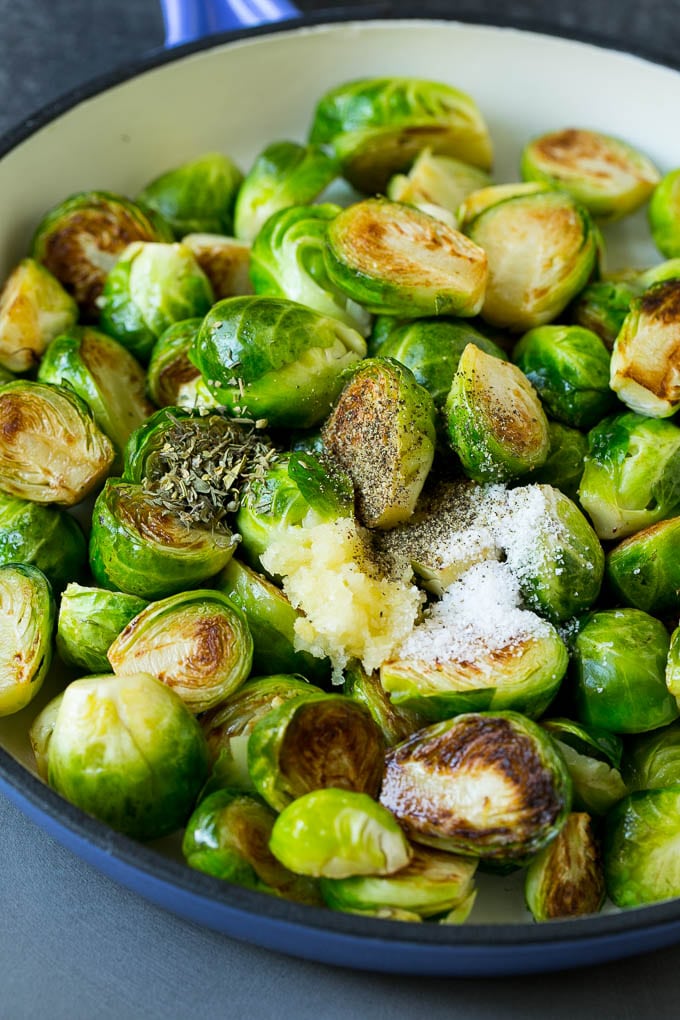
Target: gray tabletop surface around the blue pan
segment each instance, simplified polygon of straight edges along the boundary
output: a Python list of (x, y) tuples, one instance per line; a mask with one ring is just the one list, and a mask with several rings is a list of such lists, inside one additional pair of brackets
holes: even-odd
[[(455, 9), (611, 34), (662, 57), (680, 53), (680, 0), (479, 0)], [(160, 43), (155, 0), (0, 0), (0, 135)], [(0, 1020), (677, 1015), (680, 947), (593, 970), (483, 982), (352, 973), (247, 947), (121, 889), (2, 797), (0, 905)]]

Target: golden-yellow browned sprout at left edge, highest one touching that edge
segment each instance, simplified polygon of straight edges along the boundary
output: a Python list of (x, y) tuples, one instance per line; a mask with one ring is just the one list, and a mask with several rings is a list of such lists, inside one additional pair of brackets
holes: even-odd
[(76, 319), (77, 305), (59, 280), (35, 259), (22, 259), (0, 291), (0, 365), (29, 371)]

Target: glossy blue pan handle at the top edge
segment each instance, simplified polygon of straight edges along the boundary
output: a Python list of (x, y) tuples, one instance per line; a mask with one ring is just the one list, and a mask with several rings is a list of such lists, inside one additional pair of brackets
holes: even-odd
[(216, 32), (252, 29), (299, 17), (289, 0), (160, 0), (165, 45), (179, 46)]

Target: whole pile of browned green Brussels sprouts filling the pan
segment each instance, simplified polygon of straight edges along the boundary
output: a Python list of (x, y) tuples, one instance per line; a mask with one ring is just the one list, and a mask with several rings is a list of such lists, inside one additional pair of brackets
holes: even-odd
[[(374, 917), (461, 923), (477, 867), (536, 920), (680, 896), (680, 169), (573, 128), (491, 162), (464, 93), (365, 80), (245, 176), (38, 224), (0, 295), (0, 714), (56, 654), (27, 724), (84, 811)], [(667, 261), (608, 274), (647, 200)], [(292, 594), (322, 536), (383, 593), (367, 640), (406, 593), (377, 668)], [(465, 646), (503, 578), (528, 629)]]

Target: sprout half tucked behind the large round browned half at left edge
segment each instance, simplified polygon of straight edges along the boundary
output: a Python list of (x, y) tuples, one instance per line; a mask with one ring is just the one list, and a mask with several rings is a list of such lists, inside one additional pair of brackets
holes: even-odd
[(139, 361), (117, 341), (89, 326), (74, 326), (52, 341), (38, 380), (69, 387), (82, 397), (119, 454), (153, 411)]

